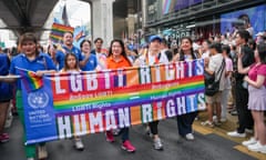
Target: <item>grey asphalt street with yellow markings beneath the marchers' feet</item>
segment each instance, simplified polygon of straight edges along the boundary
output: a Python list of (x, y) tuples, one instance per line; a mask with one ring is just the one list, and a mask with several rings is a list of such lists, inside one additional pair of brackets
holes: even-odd
[[(178, 137), (175, 119), (161, 121), (158, 130), (164, 144), (163, 151), (153, 149), (152, 139), (144, 133), (142, 124), (130, 129), (131, 142), (136, 152), (121, 149), (120, 137), (115, 142), (105, 141), (104, 133), (82, 137), (85, 149), (76, 151), (72, 140), (48, 142), (49, 160), (255, 160), (266, 159), (264, 154), (253, 153), (239, 144), (243, 140), (232, 140), (221, 133), (221, 129), (208, 129), (195, 122), (195, 140), (187, 141)], [(0, 160), (24, 160), (22, 147), (22, 127), (18, 117), (7, 130), (10, 141), (0, 143)], [(217, 133), (218, 132), (218, 133)], [(238, 141), (238, 142), (237, 142)], [(265, 160), (264, 159), (264, 160)]]

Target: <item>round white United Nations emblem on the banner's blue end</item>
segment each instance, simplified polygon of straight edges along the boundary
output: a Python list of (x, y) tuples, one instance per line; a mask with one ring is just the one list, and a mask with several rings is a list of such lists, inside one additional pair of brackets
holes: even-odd
[(44, 108), (48, 106), (48, 102), (49, 96), (44, 91), (35, 91), (28, 94), (28, 103), (33, 109)]

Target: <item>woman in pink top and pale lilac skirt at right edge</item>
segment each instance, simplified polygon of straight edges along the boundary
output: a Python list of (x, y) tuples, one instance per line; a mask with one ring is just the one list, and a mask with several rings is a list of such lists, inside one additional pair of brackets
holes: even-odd
[(244, 78), (248, 82), (248, 109), (254, 119), (254, 137), (243, 144), (250, 151), (266, 153), (266, 126), (264, 112), (266, 111), (266, 43), (260, 43), (255, 50), (256, 62), (250, 67), (243, 68), (242, 57), (238, 58), (238, 72), (248, 73)]

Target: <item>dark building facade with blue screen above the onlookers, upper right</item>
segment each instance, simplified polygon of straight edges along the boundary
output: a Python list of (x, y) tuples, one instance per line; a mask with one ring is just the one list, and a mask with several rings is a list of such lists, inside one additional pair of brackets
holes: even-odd
[(145, 34), (158, 33), (180, 39), (234, 32), (249, 26), (257, 32), (266, 29), (265, 0), (143, 0)]

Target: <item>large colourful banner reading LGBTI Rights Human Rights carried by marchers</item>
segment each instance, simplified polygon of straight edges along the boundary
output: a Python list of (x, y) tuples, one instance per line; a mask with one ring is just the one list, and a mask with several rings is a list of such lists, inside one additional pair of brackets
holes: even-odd
[[(22, 73), (27, 144), (205, 109), (203, 60), (98, 72)], [(32, 77), (32, 78), (31, 78)], [(32, 83), (33, 84), (29, 84)]]

